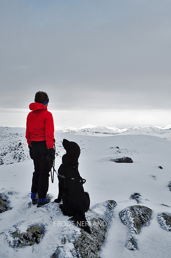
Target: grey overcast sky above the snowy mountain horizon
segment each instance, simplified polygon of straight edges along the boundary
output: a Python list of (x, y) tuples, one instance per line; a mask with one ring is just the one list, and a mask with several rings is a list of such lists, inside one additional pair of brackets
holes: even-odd
[(0, 0), (0, 126), (171, 124), (170, 0)]

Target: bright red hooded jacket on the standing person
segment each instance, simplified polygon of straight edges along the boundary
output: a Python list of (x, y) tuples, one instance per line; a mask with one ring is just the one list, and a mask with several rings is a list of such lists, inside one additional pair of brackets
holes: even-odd
[(47, 148), (54, 148), (54, 121), (52, 114), (41, 103), (31, 103), (31, 111), (27, 116), (26, 134), (27, 143), (31, 141), (46, 141)]

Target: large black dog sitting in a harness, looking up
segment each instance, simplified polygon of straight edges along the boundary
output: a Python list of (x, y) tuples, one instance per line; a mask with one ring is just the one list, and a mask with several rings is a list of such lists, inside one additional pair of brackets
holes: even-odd
[(61, 208), (64, 215), (72, 218), (75, 225), (81, 227), (91, 234), (90, 227), (85, 218), (85, 212), (90, 207), (90, 197), (84, 192), (84, 180), (78, 171), (78, 158), (80, 156), (80, 147), (76, 142), (63, 139), (62, 145), (66, 154), (62, 157), (62, 164), (58, 169), (59, 194), (54, 202), (62, 203)]

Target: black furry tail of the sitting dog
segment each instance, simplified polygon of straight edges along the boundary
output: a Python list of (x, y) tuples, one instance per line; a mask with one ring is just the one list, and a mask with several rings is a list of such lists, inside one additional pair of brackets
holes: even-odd
[(78, 212), (73, 217), (71, 217), (69, 220), (73, 221), (76, 226), (80, 227), (81, 229), (84, 229), (84, 231), (91, 234), (91, 230), (88, 225), (88, 221), (85, 217), (84, 212), (82, 212), (82, 211)]

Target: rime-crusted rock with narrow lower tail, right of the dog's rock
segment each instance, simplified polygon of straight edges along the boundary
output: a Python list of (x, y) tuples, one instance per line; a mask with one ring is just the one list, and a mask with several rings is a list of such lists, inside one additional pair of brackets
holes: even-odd
[(120, 219), (128, 227), (129, 235), (126, 247), (137, 250), (135, 235), (139, 234), (143, 226), (148, 226), (152, 217), (152, 210), (146, 206), (128, 206), (119, 212)]

